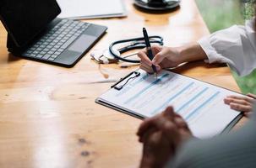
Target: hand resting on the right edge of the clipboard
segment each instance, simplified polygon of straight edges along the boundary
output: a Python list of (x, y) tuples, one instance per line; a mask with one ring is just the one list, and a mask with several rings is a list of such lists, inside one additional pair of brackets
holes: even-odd
[(247, 97), (229, 96), (224, 99), (224, 102), (231, 109), (243, 112), (246, 116), (249, 116), (253, 112), (253, 104), (256, 102), (256, 96), (251, 93)]

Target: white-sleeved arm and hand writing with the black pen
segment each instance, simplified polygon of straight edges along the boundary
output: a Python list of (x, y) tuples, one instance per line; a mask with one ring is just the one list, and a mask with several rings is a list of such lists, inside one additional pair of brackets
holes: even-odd
[(183, 62), (205, 60), (208, 63), (227, 63), (238, 75), (248, 75), (256, 67), (256, 33), (254, 19), (245, 26), (234, 25), (181, 47), (153, 46), (155, 59), (151, 61), (146, 50), (139, 52), (141, 69), (151, 72), (176, 67)]

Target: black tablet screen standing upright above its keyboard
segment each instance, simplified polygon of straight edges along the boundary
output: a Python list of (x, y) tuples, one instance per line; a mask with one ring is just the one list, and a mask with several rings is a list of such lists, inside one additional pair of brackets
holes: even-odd
[(61, 13), (56, 0), (1, 0), (0, 18), (17, 46), (27, 45)]

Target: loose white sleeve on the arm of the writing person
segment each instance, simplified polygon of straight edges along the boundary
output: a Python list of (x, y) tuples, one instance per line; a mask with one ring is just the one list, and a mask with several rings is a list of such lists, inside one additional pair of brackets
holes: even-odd
[[(253, 19), (254, 20), (254, 19)], [(247, 21), (245, 26), (234, 25), (199, 39), (209, 63), (227, 63), (240, 76), (246, 76), (256, 68), (255, 22)]]

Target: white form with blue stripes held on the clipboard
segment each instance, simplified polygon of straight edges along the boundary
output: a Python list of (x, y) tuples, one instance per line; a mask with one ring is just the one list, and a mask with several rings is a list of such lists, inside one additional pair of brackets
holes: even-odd
[(221, 134), (240, 114), (223, 102), (226, 96), (241, 96), (237, 92), (170, 71), (162, 71), (157, 79), (144, 71), (139, 72), (140, 76), (130, 79), (122, 90), (112, 88), (99, 98), (144, 118), (155, 116), (167, 106), (173, 106), (198, 138)]

